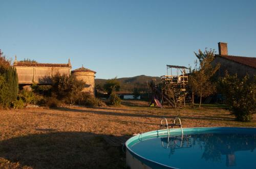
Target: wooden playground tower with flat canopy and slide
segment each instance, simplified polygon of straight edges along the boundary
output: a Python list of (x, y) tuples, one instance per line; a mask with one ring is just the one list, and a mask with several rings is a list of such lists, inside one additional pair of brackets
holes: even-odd
[(163, 105), (168, 105), (177, 108), (191, 105), (192, 101), (188, 92), (188, 68), (173, 65), (166, 65), (166, 67), (167, 75), (161, 76), (161, 83), (157, 84), (152, 80), (150, 84), (152, 91), (150, 106), (162, 108)]

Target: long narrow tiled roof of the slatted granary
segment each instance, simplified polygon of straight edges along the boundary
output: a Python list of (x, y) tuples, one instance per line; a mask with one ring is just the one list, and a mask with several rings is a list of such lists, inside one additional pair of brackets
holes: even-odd
[(61, 67), (71, 68), (71, 64), (50, 64), (50, 63), (32, 63), (32, 62), (16, 62), (13, 66), (24, 66), (24, 67)]

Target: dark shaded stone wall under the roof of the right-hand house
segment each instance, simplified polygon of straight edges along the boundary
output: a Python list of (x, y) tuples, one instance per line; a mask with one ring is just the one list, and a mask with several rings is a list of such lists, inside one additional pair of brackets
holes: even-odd
[(227, 60), (222, 57), (216, 57), (214, 61), (212, 61), (213, 65), (217, 63), (221, 64), (219, 71), (217, 72), (218, 76), (223, 77), (225, 75), (225, 71), (227, 70), (229, 74), (238, 74), (239, 78), (242, 78), (248, 73), (250, 76), (256, 75), (256, 69), (250, 66), (246, 66), (237, 62), (233, 62)]

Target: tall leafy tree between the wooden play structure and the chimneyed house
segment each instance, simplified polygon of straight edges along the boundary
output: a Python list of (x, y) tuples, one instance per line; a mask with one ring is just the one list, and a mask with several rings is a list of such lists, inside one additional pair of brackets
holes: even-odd
[(207, 50), (206, 48), (204, 52), (199, 49), (198, 53), (194, 53), (199, 60), (200, 66), (198, 69), (196, 62), (196, 68), (189, 76), (188, 82), (193, 93), (200, 97), (199, 107), (201, 107), (202, 97), (207, 97), (216, 91), (216, 85), (212, 82), (211, 77), (220, 68), (220, 64), (215, 67), (211, 65), (211, 62), (214, 60), (215, 50)]

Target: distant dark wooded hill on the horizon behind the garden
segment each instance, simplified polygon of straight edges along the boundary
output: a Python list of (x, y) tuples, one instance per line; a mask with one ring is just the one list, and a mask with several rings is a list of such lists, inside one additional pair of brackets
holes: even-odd
[[(147, 89), (146, 82), (151, 82), (152, 79), (156, 79), (157, 82), (160, 81), (160, 77), (140, 75), (135, 77), (122, 77), (117, 78), (120, 81), (121, 89), (120, 91), (132, 92), (134, 88)], [(95, 85), (103, 86), (108, 79), (95, 79)]]

